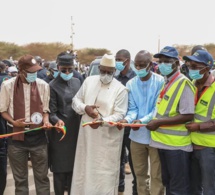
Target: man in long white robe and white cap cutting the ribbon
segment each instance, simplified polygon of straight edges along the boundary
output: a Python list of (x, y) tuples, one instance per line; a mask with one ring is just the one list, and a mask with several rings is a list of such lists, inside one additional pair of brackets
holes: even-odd
[(77, 143), (72, 195), (117, 195), (123, 131), (106, 121), (124, 118), (128, 94), (115, 78), (115, 58), (105, 54), (99, 66), (100, 75), (87, 77), (73, 98), (72, 107), (82, 122), (98, 124), (80, 126)]

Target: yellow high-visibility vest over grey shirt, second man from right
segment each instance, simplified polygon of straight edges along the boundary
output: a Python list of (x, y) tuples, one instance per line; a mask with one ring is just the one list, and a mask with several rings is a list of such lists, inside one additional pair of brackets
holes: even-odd
[[(167, 118), (179, 115), (177, 107), (184, 91), (185, 85), (188, 84), (195, 92), (195, 87), (190, 80), (184, 76), (175, 81), (168, 89), (160, 103), (157, 103), (156, 118)], [(158, 128), (156, 131), (151, 131), (152, 140), (169, 145), (169, 146), (187, 146), (191, 144), (191, 136), (185, 127), (185, 124), (172, 125), (163, 128)]]

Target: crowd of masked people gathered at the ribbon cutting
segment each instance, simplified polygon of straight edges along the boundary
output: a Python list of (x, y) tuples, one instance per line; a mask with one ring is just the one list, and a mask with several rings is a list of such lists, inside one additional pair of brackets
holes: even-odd
[(18, 133), (0, 139), (0, 195), (7, 158), (16, 195), (29, 195), (29, 160), (37, 195), (50, 195), (49, 170), (56, 195), (123, 195), (127, 161), (133, 195), (214, 195), (214, 60), (200, 45), (183, 60), (141, 50), (132, 69), (121, 49), (86, 78), (68, 52), (0, 61), (0, 135)]

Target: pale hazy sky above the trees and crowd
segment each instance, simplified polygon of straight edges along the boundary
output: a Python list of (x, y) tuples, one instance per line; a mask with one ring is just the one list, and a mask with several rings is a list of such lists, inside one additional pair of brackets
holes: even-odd
[(7, 0), (0, 41), (71, 43), (75, 49), (128, 49), (132, 58), (173, 44), (215, 43), (213, 0)]

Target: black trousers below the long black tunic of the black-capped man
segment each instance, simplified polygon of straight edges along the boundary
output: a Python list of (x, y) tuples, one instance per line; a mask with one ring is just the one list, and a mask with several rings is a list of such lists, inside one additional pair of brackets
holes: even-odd
[(56, 195), (64, 195), (65, 184), (68, 187), (68, 195), (70, 195), (71, 183), (72, 183), (72, 173), (53, 173), (54, 176), (54, 191)]

